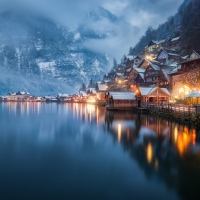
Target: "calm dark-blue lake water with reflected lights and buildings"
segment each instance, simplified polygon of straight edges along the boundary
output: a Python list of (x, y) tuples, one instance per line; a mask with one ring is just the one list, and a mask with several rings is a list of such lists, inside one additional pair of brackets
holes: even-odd
[(0, 199), (200, 199), (200, 133), (85, 104), (0, 103)]

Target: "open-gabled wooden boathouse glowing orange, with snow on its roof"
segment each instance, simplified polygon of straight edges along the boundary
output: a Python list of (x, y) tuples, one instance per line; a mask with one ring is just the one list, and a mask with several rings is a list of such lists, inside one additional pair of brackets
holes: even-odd
[(148, 105), (161, 105), (169, 102), (170, 93), (166, 88), (139, 87), (136, 98), (137, 107), (147, 107)]

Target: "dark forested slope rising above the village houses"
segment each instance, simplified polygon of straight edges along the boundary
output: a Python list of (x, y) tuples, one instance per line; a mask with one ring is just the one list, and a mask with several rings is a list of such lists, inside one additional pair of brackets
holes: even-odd
[(181, 36), (180, 49), (188, 53), (191, 49), (200, 48), (200, 1), (185, 0), (176, 15), (171, 16), (157, 29), (149, 27), (130, 54), (141, 54), (151, 40), (162, 40)]

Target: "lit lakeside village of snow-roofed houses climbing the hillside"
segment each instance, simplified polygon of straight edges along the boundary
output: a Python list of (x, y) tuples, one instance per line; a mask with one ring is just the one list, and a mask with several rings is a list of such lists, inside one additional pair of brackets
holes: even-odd
[(180, 37), (150, 41), (141, 55), (124, 56), (101, 81), (77, 94), (35, 97), (19, 91), (0, 101), (76, 102), (106, 106), (113, 110), (149, 110), (149, 106), (197, 105), (200, 103), (200, 51), (179, 55)]

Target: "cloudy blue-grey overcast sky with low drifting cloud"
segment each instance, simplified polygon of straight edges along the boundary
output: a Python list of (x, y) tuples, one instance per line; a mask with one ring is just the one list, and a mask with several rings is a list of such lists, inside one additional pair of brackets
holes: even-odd
[[(0, 0), (0, 12), (8, 8), (32, 11), (64, 26), (73, 26), (82, 22), (86, 12), (100, 5), (140, 30), (137, 35), (133, 36), (131, 32), (130, 35), (125, 35), (118, 27), (119, 35), (116, 38), (100, 42), (88, 41), (87, 46), (92, 48), (95, 44), (95, 50), (99, 52), (105, 51), (105, 45), (109, 44), (107, 53), (119, 57), (138, 42), (148, 26), (156, 28), (174, 15), (182, 2), (183, 0)], [(116, 30), (116, 27), (113, 28)]]

